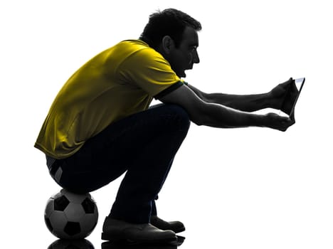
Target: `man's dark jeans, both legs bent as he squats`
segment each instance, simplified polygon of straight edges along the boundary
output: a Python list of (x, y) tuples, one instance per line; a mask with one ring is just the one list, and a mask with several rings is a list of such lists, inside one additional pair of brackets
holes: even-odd
[(76, 193), (100, 189), (126, 172), (110, 216), (147, 223), (156, 213), (174, 156), (189, 130), (189, 115), (178, 105), (158, 105), (110, 124), (73, 156), (56, 160), (60, 186)]

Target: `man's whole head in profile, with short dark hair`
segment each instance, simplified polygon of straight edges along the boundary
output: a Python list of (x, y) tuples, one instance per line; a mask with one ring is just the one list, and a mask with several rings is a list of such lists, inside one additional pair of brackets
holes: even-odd
[(184, 71), (199, 63), (196, 48), (200, 30), (201, 23), (188, 14), (165, 9), (149, 16), (140, 40), (161, 53), (179, 77), (186, 77)]

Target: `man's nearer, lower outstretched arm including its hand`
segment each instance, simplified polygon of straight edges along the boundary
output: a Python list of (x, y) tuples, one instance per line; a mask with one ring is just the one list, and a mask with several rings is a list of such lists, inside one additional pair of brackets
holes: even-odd
[(258, 115), (216, 103), (205, 102), (186, 85), (182, 85), (161, 97), (160, 100), (164, 103), (180, 105), (189, 114), (191, 121), (198, 125), (221, 128), (270, 127), (285, 131), (292, 124), (289, 118), (280, 117), (273, 113)]

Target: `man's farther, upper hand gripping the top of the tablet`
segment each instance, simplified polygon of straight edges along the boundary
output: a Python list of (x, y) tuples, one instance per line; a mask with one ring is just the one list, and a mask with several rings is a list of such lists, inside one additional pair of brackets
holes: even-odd
[(292, 78), (285, 83), (277, 85), (270, 91), (272, 107), (289, 115), (297, 97), (297, 93), (298, 90), (295, 85), (295, 80)]

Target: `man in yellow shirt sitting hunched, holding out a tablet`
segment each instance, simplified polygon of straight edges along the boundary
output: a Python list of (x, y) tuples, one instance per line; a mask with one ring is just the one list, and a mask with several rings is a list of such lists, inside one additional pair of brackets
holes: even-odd
[[(280, 109), (292, 79), (260, 95), (207, 94), (181, 80), (199, 63), (200, 30), (199, 21), (176, 9), (152, 14), (139, 40), (122, 41), (75, 72), (48, 112), (35, 147), (60, 186), (95, 191), (126, 172), (104, 240), (169, 241), (185, 230), (159, 218), (154, 200), (190, 122), (281, 131), (295, 122), (250, 113)], [(163, 104), (149, 108), (153, 97)]]

